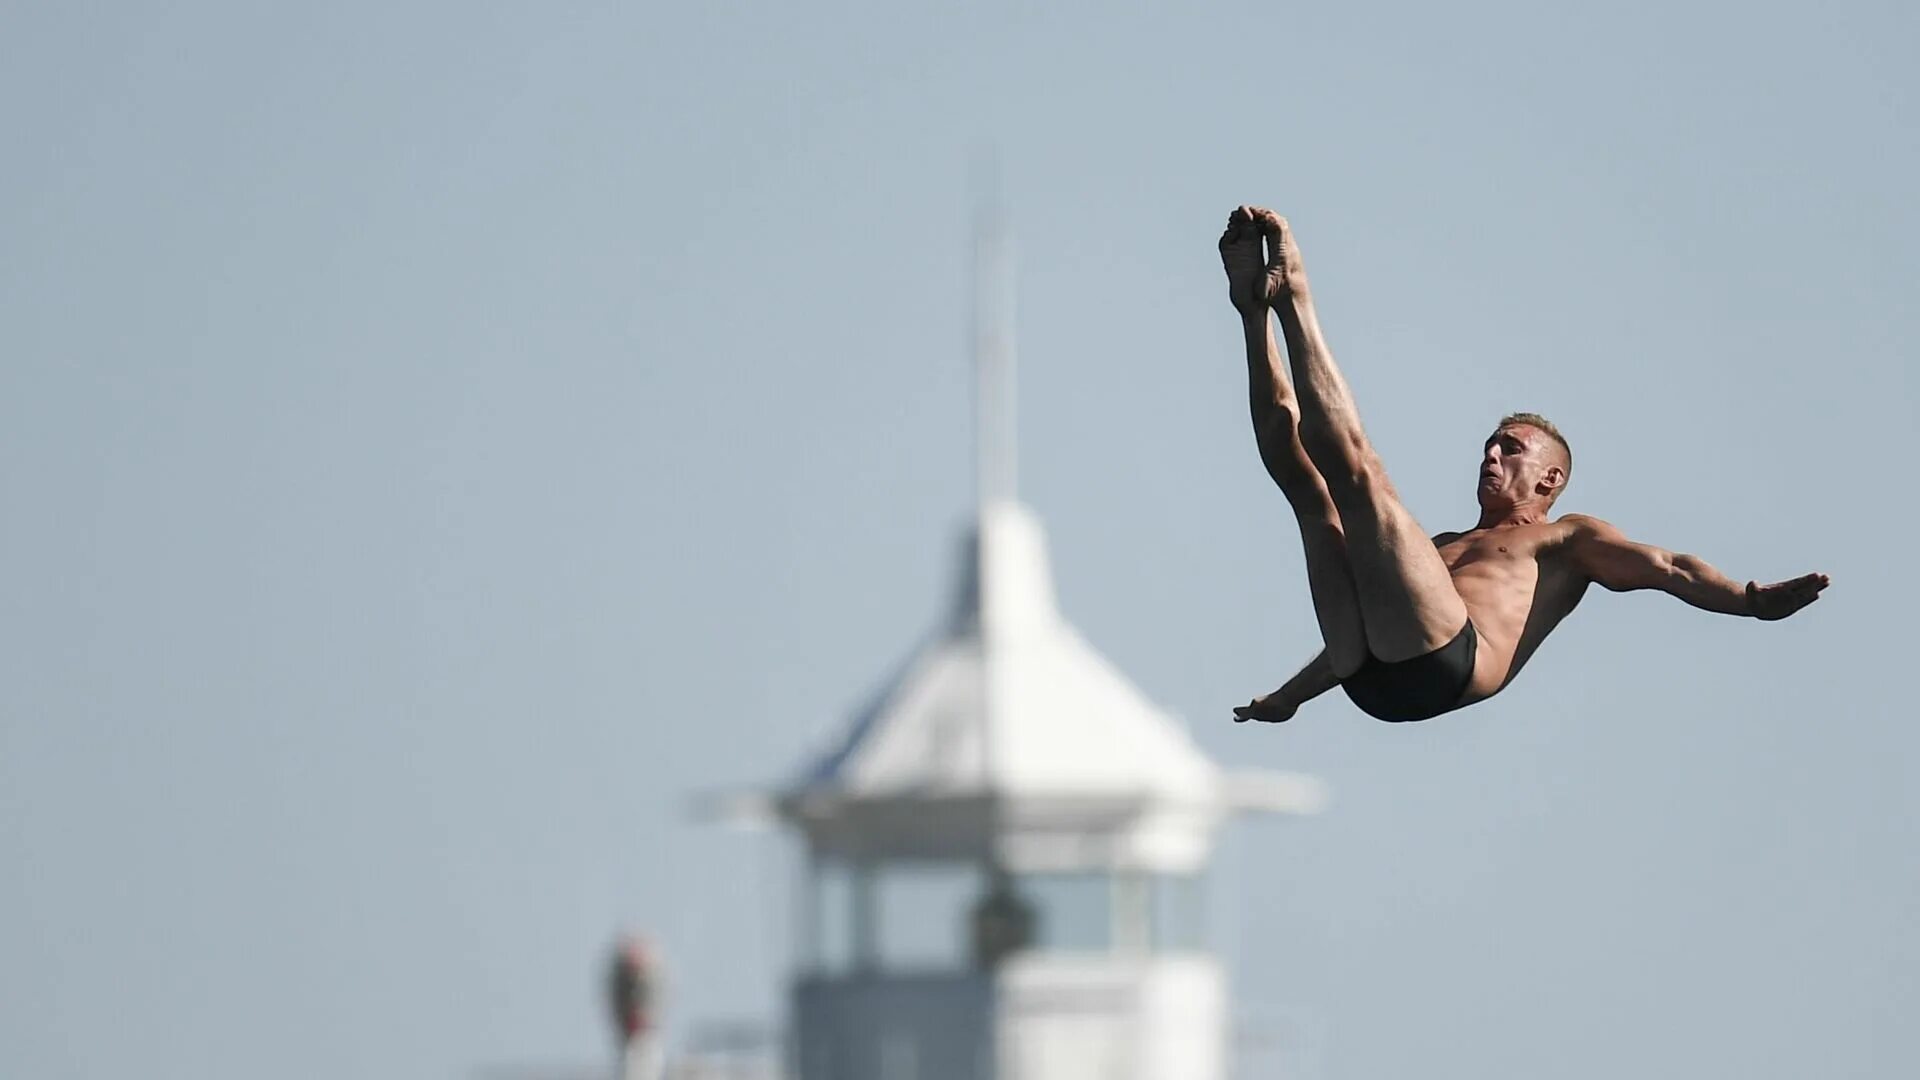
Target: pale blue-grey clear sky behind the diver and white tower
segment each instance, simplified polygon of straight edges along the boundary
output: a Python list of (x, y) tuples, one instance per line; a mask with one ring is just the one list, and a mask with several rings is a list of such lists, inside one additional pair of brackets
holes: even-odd
[[(117, 8), (117, 12), (113, 10)], [(12, 6), (0, 1074), (599, 1061), (780, 1005), (781, 846), (968, 513), (968, 161), (1062, 603), (1225, 763), (1325, 1080), (1908, 1076), (1910, 6)], [(1227, 723), (1315, 646), (1213, 238), (1300, 233), (1428, 528), (1490, 423), (1784, 625), (1609, 596), (1509, 694)]]

